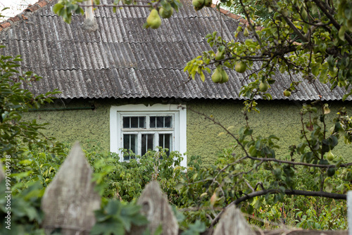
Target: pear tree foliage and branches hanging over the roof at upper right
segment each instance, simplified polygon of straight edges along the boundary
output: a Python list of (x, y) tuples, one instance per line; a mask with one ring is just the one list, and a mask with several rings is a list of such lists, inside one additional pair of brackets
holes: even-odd
[[(332, 90), (345, 88), (343, 100), (352, 94), (352, 8), (346, 1), (227, 0), (222, 4), (236, 8), (246, 24), (240, 23), (229, 42), (217, 32), (206, 36), (215, 50), (204, 51), (187, 63), (184, 70), (193, 79), (199, 74), (204, 80), (203, 72), (210, 73), (214, 65), (230, 69), (241, 65), (249, 71), (244, 78), (249, 84), (241, 87), (240, 93), (250, 99), (245, 103), (249, 110), (256, 110), (256, 95), (272, 99), (270, 90), (260, 89), (260, 84), (275, 83), (272, 76), (277, 73), (286, 73), (291, 80), (284, 96), (298, 91), (301, 78), (313, 84), (329, 83)], [(221, 58), (217, 57), (219, 51)], [(260, 69), (254, 70), (255, 64)]]

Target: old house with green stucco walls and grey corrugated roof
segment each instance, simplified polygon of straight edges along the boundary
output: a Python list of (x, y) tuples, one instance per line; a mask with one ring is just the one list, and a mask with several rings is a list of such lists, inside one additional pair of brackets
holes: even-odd
[[(210, 163), (222, 148), (231, 146), (229, 136), (218, 136), (220, 127), (192, 110), (213, 115), (236, 131), (245, 124), (239, 91), (247, 74), (229, 70), (230, 81), (215, 84), (210, 75), (205, 82), (199, 77), (189, 80), (183, 70), (187, 61), (211, 49), (206, 34), (218, 31), (230, 40), (243, 19), (214, 8), (194, 11), (191, 1), (182, 0), (180, 11), (163, 19), (158, 30), (143, 29), (146, 8), (113, 13), (112, 8), (99, 7), (94, 11), (98, 27), (92, 31), (84, 29), (83, 15), (74, 15), (70, 25), (64, 23), (52, 11), (56, 2), (38, 1), (0, 25), (0, 42), (6, 46), (1, 53), (22, 55), (21, 69), (43, 77), (25, 88), (34, 94), (62, 91), (54, 104), (32, 110), (25, 119), (49, 122), (46, 134), (61, 141), (79, 140), (105, 151), (131, 148), (141, 155), (163, 146), (201, 155)], [(304, 83), (287, 98), (282, 91), (289, 78), (275, 78), (269, 90), (272, 101), (259, 99), (261, 113), (250, 113), (249, 123), (256, 134), (279, 136), (278, 154), (286, 155), (287, 147), (298, 141), (301, 103), (318, 99), (318, 91), (333, 111), (352, 108), (350, 101), (341, 102), (344, 91), (330, 91), (320, 83), (318, 90)], [(340, 148), (338, 153), (345, 152)]]

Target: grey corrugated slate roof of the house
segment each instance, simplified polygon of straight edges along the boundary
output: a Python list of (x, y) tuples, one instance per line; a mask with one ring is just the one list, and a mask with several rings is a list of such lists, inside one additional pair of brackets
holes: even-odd
[[(213, 8), (194, 11), (191, 1), (170, 19), (163, 19), (158, 30), (143, 29), (149, 10), (99, 7), (94, 11), (99, 30), (82, 29), (84, 16), (74, 15), (68, 25), (52, 12), (57, 0), (41, 0), (24, 13), (0, 24), (2, 54), (22, 55), (23, 70), (32, 70), (44, 79), (30, 89), (40, 94), (59, 89), (59, 98), (141, 98), (243, 99), (239, 97), (246, 74), (227, 70), (230, 82), (214, 84), (210, 75), (187, 82), (183, 72), (187, 61), (210, 50), (205, 36), (222, 30), (232, 39), (239, 16)], [(102, 0), (101, 4), (111, 4)], [(225, 14), (224, 14), (225, 13)], [(243, 35), (239, 36), (243, 39)], [(257, 66), (258, 67), (258, 66)], [(277, 75), (273, 99), (315, 100), (318, 93), (304, 83), (296, 94), (284, 97), (288, 76)], [(297, 78), (298, 79), (298, 78)], [(340, 100), (342, 89), (330, 92), (328, 85), (316, 84), (325, 100)]]

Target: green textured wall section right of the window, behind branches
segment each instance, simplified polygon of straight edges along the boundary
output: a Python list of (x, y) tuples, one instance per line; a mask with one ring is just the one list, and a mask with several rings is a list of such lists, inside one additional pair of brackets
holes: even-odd
[[(251, 112), (249, 125), (254, 130), (254, 136), (267, 137), (275, 134), (279, 137), (277, 144), (281, 146), (276, 151), (277, 157), (289, 154), (288, 147), (299, 143), (301, 133), (301, 103), (296, 101), (258, 101), (260, 113)], [(327, 102), (331, 106), (331, 113), (337, 113), (340, 107), (348, 108), (348, 113), (352, 113), (352, 104), (342, 102)], [(241, 109), (244, 107), (241, 101), (190, 101), (187, 103), (192, 108), (206, 115), (213, 115), (215, 120), (225, 127), (234, 126), (231, 129), (236, 133), (246, 122)], [(330, 120), (334, 118), (331, 116)], [(228, 148), (234, 143), (234, 139), (229, 135), (218, 136), (224, 132), (218, 125), (214, 125), (210, 120), (205, 120), (201, 115), (187, 112), (187, 149), (189, 155), (201, 155), (204, 164), (213, 163), (215, 156), (223, 148)], [(343, 143), (343, 141), (342, 141)], [(339, 144), (333, 153), (352, 160), (352, 145), (346, 147)]]

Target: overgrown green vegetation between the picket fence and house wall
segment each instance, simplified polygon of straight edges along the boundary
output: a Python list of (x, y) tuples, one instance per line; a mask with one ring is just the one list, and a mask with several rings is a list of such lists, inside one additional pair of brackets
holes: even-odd
[[(37, 151), (36, 148), (32, 151), (25, 151), (27, 156), (27, 159), (23, 162), (25, 172), (13, 174), (15, 182), (13, 182), (12, 204), (15, 206), (11, 211), (15, 215), (13, 223), (18, 225), (16, 227), (20, 229), (13, 230), (14, 234), (23, 234), (23, 231), (32, 231), (32, 234), (34, 234), (34, 231), (36, 233), (42, 231), (39, 228), (43, 219), (40, 199), (44, 194), (45, 187), (53, 179), (69, 149), (70, 146), (66, 145), (63, 148), (64, 154), (61, 157), (57, 156), (57, 158), (53, 158), (50, 153)], [(122, 207), (121, 210), (118, 210), (121, 213), (123, 210), (127, 210), (123, 208), (132, 208), (133, 211), (139, 210), (139, 207), (134, 204), (135, 199), (140, 196), (148, 182), (156, 179), (161, 183), (161, 188), (168, 196), (168, 201), (174, 206), (181, 228), (187, 230), (190, 224), (198, 224), (199, 227), (203, 228), (201, 231), (204, 231), (211, 224), (209, 217), (213, 217), (225, 205), (231, 203), (233, 198), (236, 197), (234, 196), (236, 193), (244, 195), (248, 191), (246, 186), (239, 184), (243, 191), (235, 192), (234, 184), (228, 182), (228, 179), (222, 176), (227, 181), (227, 185), (224, 185), (222, 190), (226, 191), (228, 196), (227, 198), (221, 198), (219, 189), (210, 186), (210, 181), (208, 183), (205, 181), (205, 184), (201, 183), (201, 179), (204, 179), (204, 177), (213, 179), (213, 176), (218, 174), (219, 170), (223, 169), (225, 165), (234, 163), (233, 150), (233, 148), (225, 149), (218, 156), (215, 165), (206, 168), (201, 167), (199, 156), (193, 156), (187, 167), (187, 172), (184, 172), (183, 167), (177, 165), (177, 163), (180, 163), (181, 157), (180, 154), (175, 152), (172, 152), (171, 157), (168, 158), (167, 155), (163, 155), (163, 151), (149, 151), (142, 158), (139, 158), (140, 164), (137, 163), (137, 160), (131, 160), (130, 163), (121, 163), (115, 154), (99, 153), (99, 147), (87, 149), (84, 153), (94, 169), (94, 180), (98, 182), (96, 189), (103, 195), (102, 210), (110, 211), (103, 208), (112, 206)], [(156, 158), (158, 155), (163, 155), (163, 159)], [(175, 164), (175, 167), (170, 167), (172, 164)], [(251, 167), (253, 167), (251, 163), (246, 164), (246, 169), (249, 170)], [(315, 184), (306, 185), (306, 182), (314, 182), (314, 175), (304, 173), (303, 169), (297, 171), (298, 174), (294, 178), (297, 185), (303, 186), (305, 190), (313, 190)], [(237, 172), (239, 171), (237, 170)], [(218, 176), (219, 181), (221, 181), (220, 178)], [(270, 179), (272, 179), (272, 172), (265, 169), (253, 171), (243, 176), (245, 182), (267, 182)], [(332, 177), (330, 180), (332, 184), (336, 185), (333, 191), (339, 191), (340, 189), (339, 192), (342, 190), (343, 193), (346, 193), (350, 189), (348, 187), (351, 187), (338, 177)], [(225, 181), (223, 184), (225, 184)], [(346, 185), (341, 189), (341, 184)], [(247, 214), (250, 224), (255, 224), (263, 229), (273, 229), (284, 224), (287, 227), (301, 227), (303, 229), (347, 229), (345, 201), (304, 196), (284, 196), (280, 193), (275, 195), (277, 196), (254, 197), (239, 203), (237, 206)], [(1, 220), (4, 220), (6, 198), (1, 198), (3, 198), (0, 201)], [(122, 204), (111, 205), (111, 203), (114, 203), (113, 201), (115, 203), (121, 201)], [(129, 203), (132, 204), (129, 205)], [(178, 211), (176, 212), (176, 210)], [(107, 228), (115, 228), (113, 224), (116, 224), (118, 217), (121, 215), (111, 216), (116, 217), (116, 219), (101, 220), (102, 224), (97, 224), (94, 229), (96, 234), (99, 234), (96, 229), (101, 229), (103, 226), (108, 225)], [(131, 221), (134, 221), (140, 215), (132, 213), (130, 216)], [(143, 222), (144, 220), (139, 221)], [(1, 228), (4, 229), (4, 227)], [(102, 229), (101, 231), (108, 230)]]

